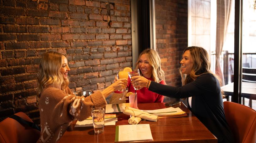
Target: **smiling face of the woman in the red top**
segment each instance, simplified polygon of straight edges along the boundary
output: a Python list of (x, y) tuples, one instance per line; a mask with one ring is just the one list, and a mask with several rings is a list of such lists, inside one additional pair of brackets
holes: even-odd
[(150, 78), (152, 76), (152, 66), (145, 54), (142, 54), (139, 58), (139, 69), (144, 77)]

